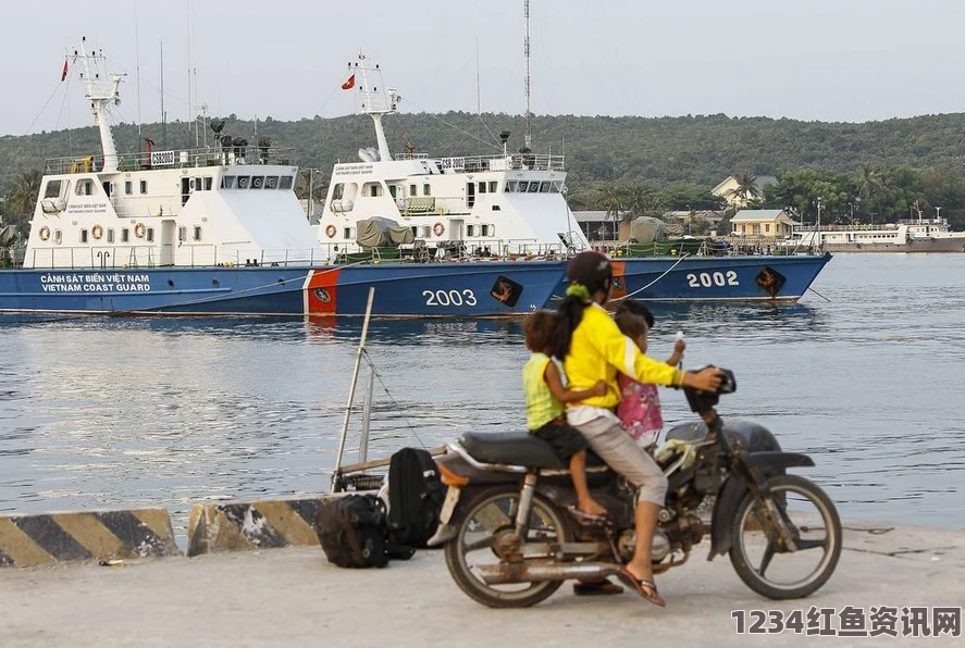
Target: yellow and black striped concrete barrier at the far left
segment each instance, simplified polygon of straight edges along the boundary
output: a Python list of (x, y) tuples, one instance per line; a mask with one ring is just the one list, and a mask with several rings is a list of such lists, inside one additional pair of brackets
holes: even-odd
[(182, 556), (164, 509), (0, 516), (0, 566)]

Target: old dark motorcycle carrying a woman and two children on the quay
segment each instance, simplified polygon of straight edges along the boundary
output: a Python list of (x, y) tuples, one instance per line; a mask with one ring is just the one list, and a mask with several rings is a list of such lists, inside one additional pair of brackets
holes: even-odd
[[(783, 452), (753, 423), (725, 423), (715, 406), (737, 389), (684, 389), (703, 424), (668, 431), (655, 460), (669, 481), (653, 541), (655, 574), (681, 565), (704, 537), (707, 560), (728, 553), (747, 587), (770, 599), (806, 597), (831, 577), (841, 521), (811, 481), (787, 473), (813, 466)], [(447, 487), (430, 546), (445, 545), (453, 580), (493, 608), (534, 606), (564, 581), (615, 575), (633, 553), (634, 489), (591, 452), (587, 483), (605, 522), (576, 512), (569, 471), (550, 446), (525, 433), (467, 433), (438, 461)], [(705, 520), (710, 509), (709, 520)]]

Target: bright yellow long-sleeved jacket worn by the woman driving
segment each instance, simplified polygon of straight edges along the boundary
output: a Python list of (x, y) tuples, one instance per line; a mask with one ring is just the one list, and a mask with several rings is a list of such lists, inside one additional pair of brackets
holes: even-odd
[(613, 409), (620, 403), (617, 373), (641, 383), (681, 386), (683, 372), (644, 356), (640, 347), (620, 333), (616, 322), (599, 304), (586, 307), (573, 332), (570, 352), (564, 360), (570, 389), (590, 389), (606, 381), (605, 396), (594, 396), (574, 406)]

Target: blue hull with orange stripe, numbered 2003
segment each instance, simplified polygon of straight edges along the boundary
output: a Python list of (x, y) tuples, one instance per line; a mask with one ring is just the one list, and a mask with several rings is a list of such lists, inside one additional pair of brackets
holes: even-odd
[(0, 312), (505, 316), (544, 306), (564, 262), (0, 271)]

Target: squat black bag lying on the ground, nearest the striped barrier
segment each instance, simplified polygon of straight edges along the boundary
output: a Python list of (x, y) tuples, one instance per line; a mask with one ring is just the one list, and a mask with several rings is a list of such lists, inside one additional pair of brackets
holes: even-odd
[(410, 547), (386, 541), (385, 502), (374, 495), (346, 495), (319, 507), (316, 533), (329, 562), (342, 568), (384, 568), (408, 560)]

